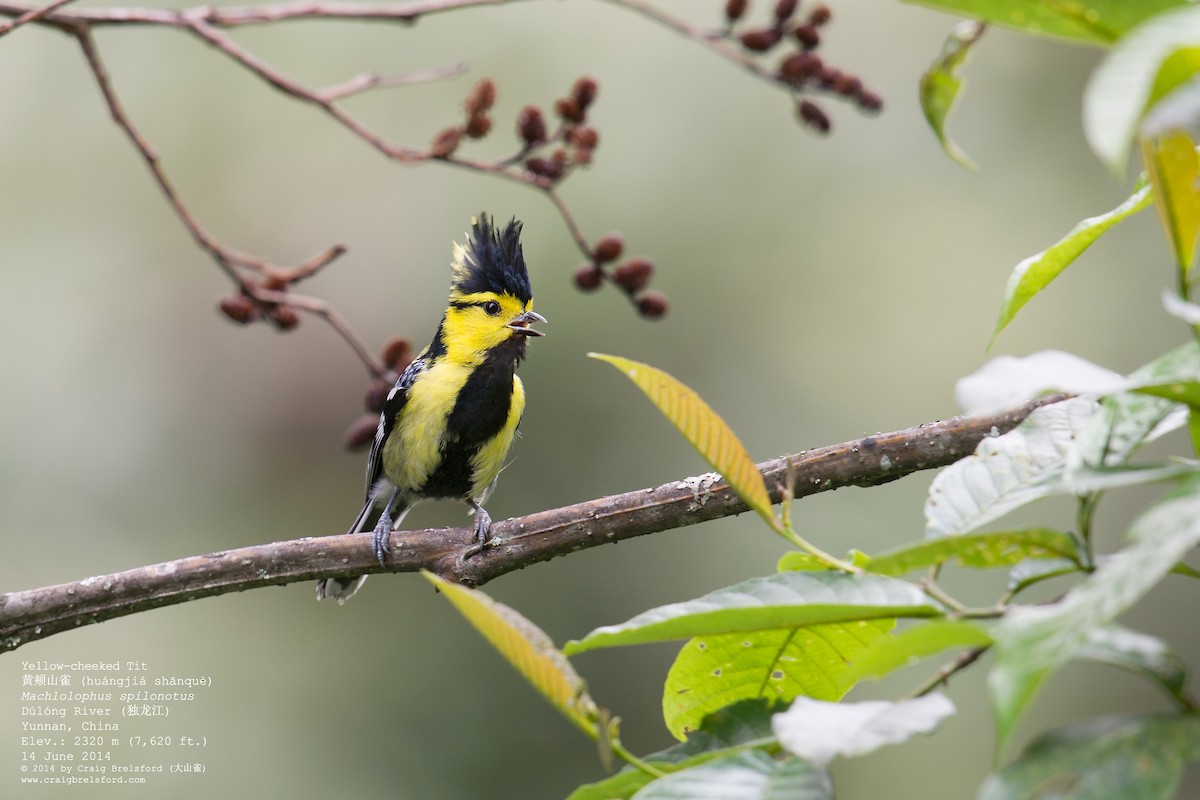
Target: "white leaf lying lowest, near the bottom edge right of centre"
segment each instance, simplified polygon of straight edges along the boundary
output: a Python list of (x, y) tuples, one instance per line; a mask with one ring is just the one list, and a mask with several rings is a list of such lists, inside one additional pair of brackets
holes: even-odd
[(788, 752), (826, 765), (838, 756), (862, 756), (931, 733), (952, 714), (954, 704), (937, 693), (899, 703), (824, 703), (798, 697), (774, 716), (772, 728)]

